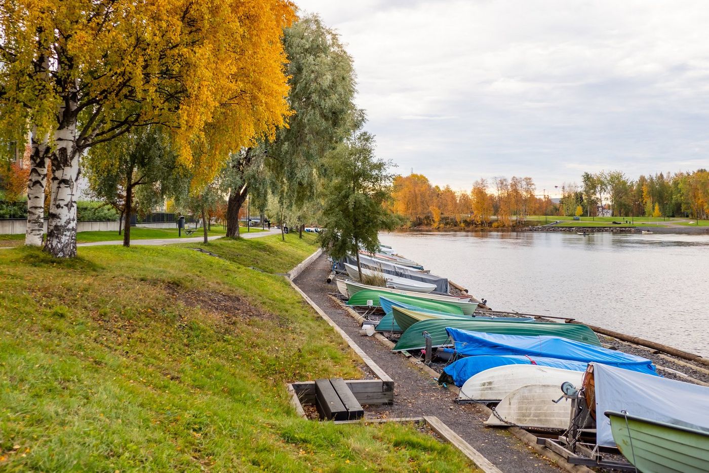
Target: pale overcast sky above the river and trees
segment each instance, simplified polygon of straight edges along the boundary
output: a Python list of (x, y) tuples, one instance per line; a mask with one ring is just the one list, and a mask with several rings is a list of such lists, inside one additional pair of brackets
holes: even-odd
[(529, 175), (541, 194), (709, 167), (707, 0), (296, 3), (340, 33), (398, 173)]

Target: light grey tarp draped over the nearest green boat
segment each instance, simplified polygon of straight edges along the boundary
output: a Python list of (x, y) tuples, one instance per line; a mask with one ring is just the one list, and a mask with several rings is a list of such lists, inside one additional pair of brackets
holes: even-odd
[(709, 387), (674, 379), (629, 373), (615, 366), (593, 363), (596, 389), (596, 442), (614, 447), (610, 419), (605, 411), (627, 411), (635, 417), (657, 420), (709, 433)]

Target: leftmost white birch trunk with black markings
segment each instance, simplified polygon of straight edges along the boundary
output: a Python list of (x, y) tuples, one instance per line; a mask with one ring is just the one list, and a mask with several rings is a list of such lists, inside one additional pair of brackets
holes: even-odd
[(30, 154), (30, 177), (27, 181), (27, 230), (25, 244), (42, 246), (44, 234), (44, 201), (47, 186), (49, 156), (48, 138), (38, 138), (37, 127), (32, 131), (32, 154)]

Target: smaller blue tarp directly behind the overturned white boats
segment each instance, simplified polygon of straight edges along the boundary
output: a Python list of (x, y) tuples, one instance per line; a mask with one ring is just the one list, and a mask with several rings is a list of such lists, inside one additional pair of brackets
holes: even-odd
[[(568, 359), (547, 358), (547, 357), (525, 357), (525, 355), (480, 355), (478, 357), (465, 357), (449, 364), (443, 370), (447, 376), (441, 376), (439, 383), (446, 383), (451, 379), (458, 387), (463, 386), (473, 376), (486, 369), (504, 366), (506, 364), (537, 364), (539, 366), (550, 366), (552, 368), (570, 369), (571, 371), (585, 371), (586, 363), (582, 361), (571, 361)], [(559, 390), (559, 393), (562, 391)], [(561, 396), (559, 394), (559, 396)]]

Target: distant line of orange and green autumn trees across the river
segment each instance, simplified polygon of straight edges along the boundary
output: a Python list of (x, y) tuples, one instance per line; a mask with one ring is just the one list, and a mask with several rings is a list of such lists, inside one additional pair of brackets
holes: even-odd
[(514, 227), (530, 215), (595, 217), (709, 216), (709, 173), (641, 175), (637, 180), (613, 170), (584, 173), (581, 185), (561, 186), (562, 197), (552, 202), (549, 192), (532, 178), (476, 180), (470, 192), (455, 192), (449, 185), (432, 185), (422, 174), (398, 175), (393, 180), (390, 208), (411, 227)]

